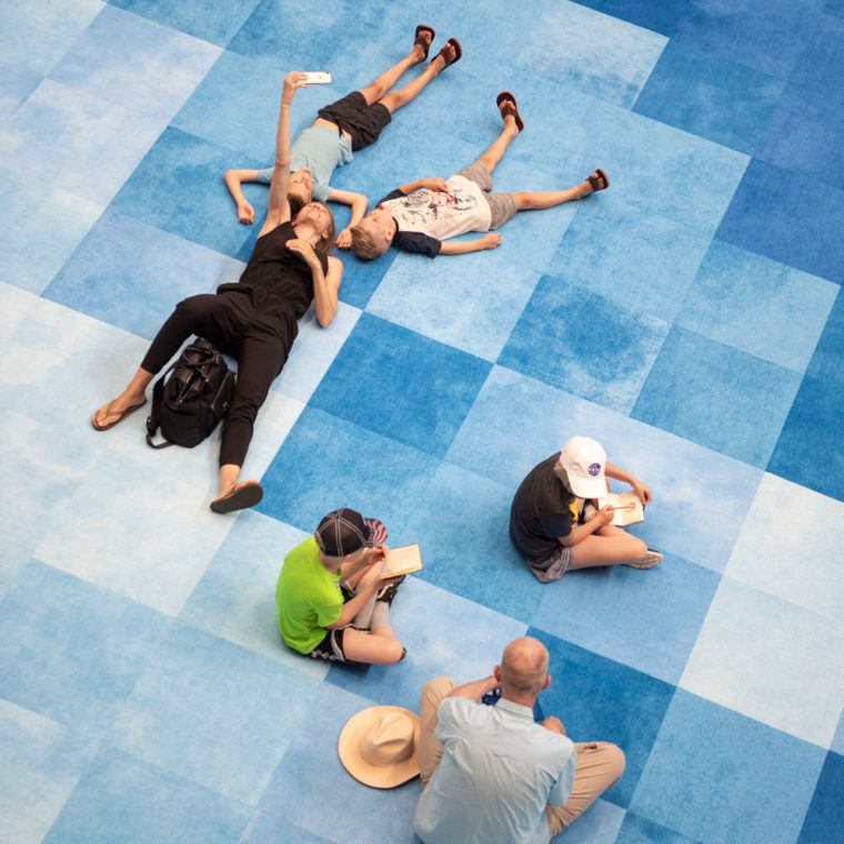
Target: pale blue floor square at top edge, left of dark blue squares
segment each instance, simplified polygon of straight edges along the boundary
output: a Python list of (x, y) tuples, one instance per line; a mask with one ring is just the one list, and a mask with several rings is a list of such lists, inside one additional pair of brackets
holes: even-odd
[[(631, 105), (666, 39), (577, 3), (543, 6), (537, 17), (530, 10), (531, 37), (516, 62), (537, 76), (571, 81), (584, 93)], [(603, 49), (607, 41), (623, 42), (623, 53)]]

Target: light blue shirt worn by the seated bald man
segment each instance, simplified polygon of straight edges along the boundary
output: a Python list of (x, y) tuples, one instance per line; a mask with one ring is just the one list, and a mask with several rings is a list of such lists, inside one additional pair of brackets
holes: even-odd
[(436, 714), (445, 747), (419, 798), (416, 835), (424, 844), (547, 844), (545, 804), (564, 805), (574, 786), (572, 741), (506, 699), (446, 697)]

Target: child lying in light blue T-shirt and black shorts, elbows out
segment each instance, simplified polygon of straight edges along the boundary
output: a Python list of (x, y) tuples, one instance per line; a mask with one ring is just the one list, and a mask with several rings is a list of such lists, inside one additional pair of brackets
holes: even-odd
[[(428, 59), (434, 34), (432, 27), (420, 23), (414, 33), (413, 49), (404, 59), (360, 91), (352, 91), (320, 109), (313, 124), (297, 138), (291, 149), (293, 173), (288, 187), (288, 201), (293, 214), (301, 205), (315, 199), (351, 205), (349, 227), (362, 219), (369, 204), (366, 197), (332, 188), (329, 184), (331, 175), (334, 168), (352, 160), (352, 152), (374, 143), (398, 109), (406, 105), (442, 70), (461, 58), (460, 41), (451, 38), (420, 76), (403, 88), (391, 90), (404, 71)], [(225, 171), (223, 178), (238, 207), (240, 222), (251, 224), (255, 219), (254, 209), (243, 195), (241, 185), (243, 182), (269, 182), (272, 172), (272, 168)], [(338, 234), (339, 247), (351, 245), (349, 227)]]

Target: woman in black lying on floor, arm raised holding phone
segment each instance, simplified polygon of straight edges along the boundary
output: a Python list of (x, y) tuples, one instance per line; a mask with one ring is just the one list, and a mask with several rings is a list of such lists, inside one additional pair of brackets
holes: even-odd
[(191, 334), (234, 356), (238, 380), (223, 422), (220, 483), (211, 502), (215, 513), (253, 506), (261, 500), (258, 481), (239, 480), (258, 411), (288, 359), (299, 332), (297, 320), (312, 301), (322, 326), (338, 310), (343, 264), (329, 255), (334, 218), (322, 202), (309, 202), (291, 220), (288, 203), (290, 104), (297, 89), (307, 87), (304, 78), (293, 72), (284, 79), (267, 219), (240, 281), (181, 301), (125, 390), (91, 419), (98, 431), (108, 431), (143, 406), (150, 382)]

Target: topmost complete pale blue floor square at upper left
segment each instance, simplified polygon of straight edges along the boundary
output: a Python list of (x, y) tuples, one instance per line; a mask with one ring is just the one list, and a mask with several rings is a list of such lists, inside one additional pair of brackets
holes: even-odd
[[(125, 60), (130, 51), (132, 63)], [(219, 54), (218, 47), (107, 6), (50, 78), (89, 97), (170, 120)], [(144, 68), (143, 76), (135, 62)]]

